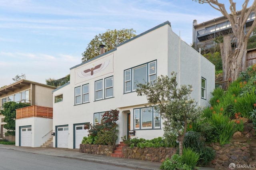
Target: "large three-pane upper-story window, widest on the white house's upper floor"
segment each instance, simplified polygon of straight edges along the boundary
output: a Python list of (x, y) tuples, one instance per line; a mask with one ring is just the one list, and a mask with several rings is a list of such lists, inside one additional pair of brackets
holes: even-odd
[(124, 93), (135, 91), (137, 84), (156, 81), (156, 61), (139, 65), (124, 71)]

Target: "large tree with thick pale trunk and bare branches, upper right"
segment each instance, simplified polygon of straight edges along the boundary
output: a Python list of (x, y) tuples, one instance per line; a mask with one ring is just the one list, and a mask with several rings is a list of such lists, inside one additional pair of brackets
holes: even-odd
[(250, 0), (244, 0), (242, 4), (241, 14), (238, 16), (236, 11), (236, 2), (229, 0), (230, 2), (230, 14), (227, 12), (225, 5), (219, 3), (218, 0), (193, 0), (200, 4), (209, 4), (215, 10), (220, 11), (223, 16), (228, 18), (231, 24), (234, 38), (236, 38), (236, 48), (232, 50), (230, 35), (223, 37), (223, 42), (220, 44), (222, 55), (222, 67), (223, 67), (223, 79), (234, 81), (237, 79), (240, 71), (246, 70), (246, 53), (247, 43), (252, 31), (256, 26), (256, 22), (252, 23), (252, 26), (248, 30), (247, 34), (244, 34), (244, 25), (250, 14), (256, 9), (256, 0), (252, 2), (252, 5), (248, 7)]

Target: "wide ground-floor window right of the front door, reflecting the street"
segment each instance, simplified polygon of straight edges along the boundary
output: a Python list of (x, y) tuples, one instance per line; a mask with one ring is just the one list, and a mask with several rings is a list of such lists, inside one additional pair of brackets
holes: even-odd
[(156, 129), (160, 124), (160, 113), (156, 107), (134, 109), (134, 129)]

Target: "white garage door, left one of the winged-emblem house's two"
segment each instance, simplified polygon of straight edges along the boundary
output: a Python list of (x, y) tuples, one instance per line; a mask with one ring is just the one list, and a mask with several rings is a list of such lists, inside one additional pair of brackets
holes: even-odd
[(68, 148), (68, 127), (58, 127), (57, 147)]

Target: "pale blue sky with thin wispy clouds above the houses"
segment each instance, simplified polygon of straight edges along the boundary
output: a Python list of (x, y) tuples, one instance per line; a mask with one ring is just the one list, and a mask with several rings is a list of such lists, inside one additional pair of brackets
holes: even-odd
[(193, 20), (219, 16), (192, 0), (0, 0), (0, 87), (21, 73), (38, 83), (68, 75), (90, 40), (107, 29), (140, 34), (168, 20), (190, 44)]

